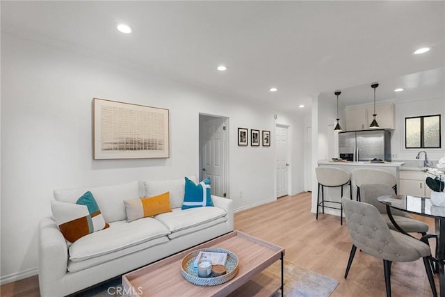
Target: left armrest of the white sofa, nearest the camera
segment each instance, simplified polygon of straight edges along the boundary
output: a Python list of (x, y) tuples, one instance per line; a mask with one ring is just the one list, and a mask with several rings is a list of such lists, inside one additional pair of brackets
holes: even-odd
[(67, 273), (68, 248), (63, 234), (52, 218), (39, 224), (39, 285), (41, 296), (51, 296)]

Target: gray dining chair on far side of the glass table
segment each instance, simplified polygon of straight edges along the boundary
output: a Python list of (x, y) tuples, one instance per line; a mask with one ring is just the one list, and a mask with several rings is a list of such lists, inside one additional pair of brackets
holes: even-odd
[[(389, 219), (385, 204), (382, 204), (377, 200), (377, 198), (380, 196), (394, 195), (394, 189), (392, 186), (389, 186), (388, 184), (362, 184), (360, 187), (360, 195), (362, 202), (372, 204), (378, 209), (389, 229), (398, 231)], [(422, 235), (426, 235), (426, 232), (428, 232), (428, 225), (426, 223), (415, 220), (406, 212), (391, 209), (391, 215), (393, 216), (394, 220), (396, 220), (397, 225), (405, 232), (416, 232), (421, 233)]]

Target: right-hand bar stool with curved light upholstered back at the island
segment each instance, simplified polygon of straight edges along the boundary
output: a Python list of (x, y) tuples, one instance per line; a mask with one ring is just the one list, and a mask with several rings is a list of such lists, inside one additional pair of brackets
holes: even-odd
[(360, 201), (360, 186), (362, 184), (387, 184), (394, 188), (397, 194), (397, 179), (394, 174), (387, 170), (375, 168), (358, 168), (353, 171), (353, 180), (357, 186), (356, 200)]

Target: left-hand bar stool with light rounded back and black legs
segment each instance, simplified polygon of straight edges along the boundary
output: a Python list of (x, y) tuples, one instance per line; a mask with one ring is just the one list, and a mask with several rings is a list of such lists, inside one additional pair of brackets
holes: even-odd
[[(341, 197), (343, 197), (343, 186), (349, 185), (350, 200), (353, 200), (353, 193), (351, 192), (350, 173), (346, 170), (337, 167), (317, 167), (315, 168), (315, 174), (318, 181), (318, 193), (317, 193), (317, 213), (316, 219), (318, 220), (318, 208), (321, 207), (323, 214), (325, 213), (325, 207), (330, 209), (340, 209), (340, 225), (343, 225), (343, 206), (341, 204)], [(327, 186), (329, 188), (341, 187), (341, 197), (339, 201), (325, 200), (323, 188)], [(320, 201), (320, 188), (321, 188), (321, 201)], [(331, 204), (331, 206), (325, 206), (325, 202)], [(339, 204), (339, 207), (337, 205)]]

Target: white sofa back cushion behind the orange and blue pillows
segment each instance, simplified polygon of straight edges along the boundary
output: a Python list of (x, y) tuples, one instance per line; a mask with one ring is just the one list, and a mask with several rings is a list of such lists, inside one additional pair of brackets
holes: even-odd
[[(193, 182), (197, 182), (194, 175), (188, 177)], [(181, 207), (184, 200), (184, 178), (168, 180), (150, 180), (144, 181), (145, 197), (159, 195), (170, 192), (170, 207), (175, 209)]]

